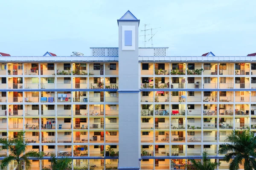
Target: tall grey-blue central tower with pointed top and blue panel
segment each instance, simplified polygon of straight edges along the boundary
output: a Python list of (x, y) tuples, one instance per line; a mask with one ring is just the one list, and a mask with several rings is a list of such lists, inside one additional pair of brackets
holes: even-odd
[(138, 20), (127, 11), (119, 20), (119, 165), (140, 169)]

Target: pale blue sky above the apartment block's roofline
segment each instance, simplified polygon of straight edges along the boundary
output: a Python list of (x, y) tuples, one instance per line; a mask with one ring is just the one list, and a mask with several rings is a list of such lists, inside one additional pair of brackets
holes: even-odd
[(69, 56), (117, 47), (116, 20), (130, 10), (140, 30), (161, 27), (154, 47), (169, 47), (170, 56), (245, 56), (256, 52), (255, 7), (255, 0), (1, 0), (0, 52)]

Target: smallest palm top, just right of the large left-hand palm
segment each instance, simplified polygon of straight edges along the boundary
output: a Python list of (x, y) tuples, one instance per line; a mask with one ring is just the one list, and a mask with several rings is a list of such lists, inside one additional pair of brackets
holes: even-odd
[(55, 153), (51, 154), (52, 170), (66, 170), (72, 163), (72, 159), (68, 156), (62, 156), (60, 159), (56, 158)]

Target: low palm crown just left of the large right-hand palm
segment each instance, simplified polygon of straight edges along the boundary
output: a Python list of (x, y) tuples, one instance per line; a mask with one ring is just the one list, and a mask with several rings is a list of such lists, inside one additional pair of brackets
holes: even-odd
[(189, 159), (191, 164), (187, 164), (187, 170), (215, 170), (220, 163), (211, 162), (209, 159), (207, 151), (202, 153), (202, 161), (195, 161), (194, 159)]

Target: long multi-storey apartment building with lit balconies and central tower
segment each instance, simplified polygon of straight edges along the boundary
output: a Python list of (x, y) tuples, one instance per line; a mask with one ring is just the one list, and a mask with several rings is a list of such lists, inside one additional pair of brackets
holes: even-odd
[(119, 47), (91, 56), (0, 53), (0, 138), (26, 131), (28, 150), (45, 153), (33, 170), (49, 167), (50, 153), (73, 158), (70, 170), (185, 169), (204, 150), (227, 170), (227, 134), (256, 132), (256, 53), (172, 57), (138, 47), (130, 11), (117, 21)]

